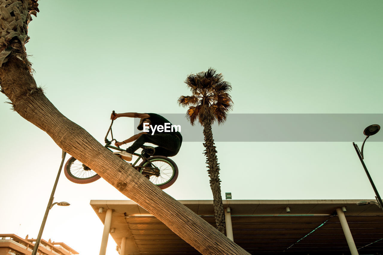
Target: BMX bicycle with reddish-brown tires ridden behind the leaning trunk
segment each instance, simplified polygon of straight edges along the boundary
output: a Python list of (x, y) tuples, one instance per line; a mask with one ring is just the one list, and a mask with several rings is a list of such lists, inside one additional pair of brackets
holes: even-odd
[[(113, 114), (114, 113), (115, 111), (113, 111)], [(113, 150), (123, 151), (123, 149), (111, 145), (113, 141), (118, 142), (113, 138), (112, 125), (113, 120), (105, 136), (105, 147), (108, 148), (111, 152), (113, 152)], [(111, 141), (109, 141), (107, 138), (109, 132), (112, 137)], [(138, 156), (136, 161), (129, 164), (160, 189), (163, 190), (171, 186), (178, 177), (178, 167), (174, 161), (164, 156), (151, 156), (155, 152), (154, 147), (142, 146), (141, 148), (143, 149), (141, 154), (133, 153), (133, 155)], [(149, 155), (149, 157), (146, 157), (145, 154)], [(142, 162), (137, 165), (141, 159)], [(74, 157), (69, 158), (69, 160), (65, 163), (64, 168), (65, 176), (68, 180), (74, 183), (91, 183), (101, 178), (100, 175), (98, 175), (96, 172), (94, 172), (92, 169)]]

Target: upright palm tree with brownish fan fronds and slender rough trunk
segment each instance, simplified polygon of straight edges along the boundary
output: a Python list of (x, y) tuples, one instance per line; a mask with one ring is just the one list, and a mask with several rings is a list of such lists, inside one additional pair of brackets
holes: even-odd
[(210, 177), (210, 188), (213, 192), (213, 205), (217, 229), (224, 233), (225, 215), (221, 196), (221, 180), (219, 180), (219, 163), (217, 150), (214, 145), (211, 125), (214, 121), (223, 124), (226, 121), (228, 111), (233, 102), (228, 92), (231, 90), (230, 83), (223, 80), (222, 74), (216, 74), (216, 70), (209, 68), (207, 72), (190, 74), (185, 80), (191, 90), (191, 96), (180, 96), (178, 104), (189, 106), (186, 113), (191, 125), (198, 120), (203, 126), (205, 136), (205, 155)]

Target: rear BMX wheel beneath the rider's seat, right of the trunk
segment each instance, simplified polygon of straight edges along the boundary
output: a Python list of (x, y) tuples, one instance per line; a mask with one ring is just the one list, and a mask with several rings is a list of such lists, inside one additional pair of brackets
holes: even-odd
[[(173, 160), (164, 156), (153, 156), (148, 158), (151, 167), (158, 168), (159, 176), (151, 175), (149, 180), (158, 186), (161, 190), (170, 187), (178, 177), (178, 167)], [(140, 166), (147, 166), (149, 162), (146, 160), (141, 162)], [(144, 170), (143, 167), (139, 168), (140, 173)]]

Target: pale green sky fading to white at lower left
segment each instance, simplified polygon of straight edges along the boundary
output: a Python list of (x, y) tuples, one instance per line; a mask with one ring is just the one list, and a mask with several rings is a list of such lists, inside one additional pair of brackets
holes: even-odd
[[(355, 120), (334, 130), (358, 128), (348, 142), (216, 142), (223, 196), (374, 199), (352, 142), (361, 147), (363, 129), (383, 124), (383, 2), (41, 0), (39, 9), (26, 44), (34, 78), (61, 113), (101, 144), (113, 110), (186, 113), (177, 104), (190, 95), (183, 81), (213, 67), (232, 85), (233, 114), (375, 114), (373, 123)], [(36, 238), (61, 149), (10, 105), (0, 114), (0, 233)], [(251, 133), (244, 125), (232, 132)], [(214, 127), (213, 136), (223, 127)], [(113, 134), (122, 141), (134, 128), (133, 119), (119, 118)], [(364, 149), (381, 192), (382, 136), (370, 137)], [(183, 142), (172, 157), (178, 179), (165, 192), (212, 199), (203, 150), (202, 141)], [(50, 210), (43, 239), (97, 254), (103, 224), (91, 199), (128, 198), (102, 179), (80, 185), (61, 173), (54, 201), (71, 205)], [(110, 238), (107, 254), (118, 254), (115, 248)]]

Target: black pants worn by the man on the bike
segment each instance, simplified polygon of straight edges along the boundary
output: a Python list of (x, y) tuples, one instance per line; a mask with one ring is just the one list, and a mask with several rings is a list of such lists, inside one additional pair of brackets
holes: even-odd
[(132, 146), (126, 149), (127, 152), (133, 154), (138, 150), (144, 143), (150, 142), (151, 144), (158, 145), (154, 147), (155, 152), (153, 156), (160, 155), (165, 157), (172, 157), (177, 155), (181, 147), (180, 139), (173, 134), (142, 134), (138, 139), (132, 144)]

